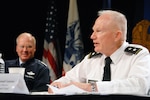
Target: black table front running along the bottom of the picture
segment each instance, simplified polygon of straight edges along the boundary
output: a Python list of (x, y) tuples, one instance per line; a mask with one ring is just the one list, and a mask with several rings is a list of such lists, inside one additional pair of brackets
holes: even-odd
[(120, 95), (120, 94), (44, 95), (44, 94), (0, 93), (0, 100), (150, 100), (150, 96)]

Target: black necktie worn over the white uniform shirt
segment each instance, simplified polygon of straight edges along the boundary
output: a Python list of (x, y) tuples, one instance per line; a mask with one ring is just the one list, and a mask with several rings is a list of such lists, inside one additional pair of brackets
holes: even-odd
[(103, 81), (110, 81), (111, 80), (111, 71), (110, 71), (110, 63), (111, 62), (112, 62), (112, 60), (110, 57), (105, 58)]

